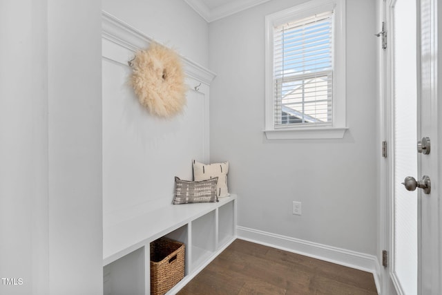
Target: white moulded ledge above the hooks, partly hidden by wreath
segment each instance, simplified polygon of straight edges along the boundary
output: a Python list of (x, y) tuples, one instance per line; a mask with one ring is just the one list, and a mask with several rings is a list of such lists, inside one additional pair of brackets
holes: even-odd
[[(102, 39), (122, 46), (123, 48), (130, 50), (132, 53), (147, 48), (151, 42), (155, 41), (140, 30), (137, 30), (133, 26), (114, 17), (104, 10), (102, 11)], [(108, 53), (105, 52), (105, 48), (103, 48), (103, 51), (104, 57), (117, 61), (125, 66), (128, 66), (127, 62), (133, 58), (133, 55), (109, 57), (107, 55)], [(211, 70), (195, 63), (195, 61), (191, 61), (191, 59), (188, 59), (187, 57), (181, 56), (181, 58), (184, 64), (184, 72), (188, 77), (196, 79), (206, 85), (210, 85), (212, 80), (215, 79), (216, 74), (211, 72)]]

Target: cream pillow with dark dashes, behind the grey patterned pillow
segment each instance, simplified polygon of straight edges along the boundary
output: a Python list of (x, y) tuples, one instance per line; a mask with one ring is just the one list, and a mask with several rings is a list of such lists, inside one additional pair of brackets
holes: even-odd
[(227, 189), (227, 174), (229, 173), (229, 162), (202, 164), (193, 160), (193, 180), (209, 180), (218, 177), (216, 194), (219, 198), (229, 196)]

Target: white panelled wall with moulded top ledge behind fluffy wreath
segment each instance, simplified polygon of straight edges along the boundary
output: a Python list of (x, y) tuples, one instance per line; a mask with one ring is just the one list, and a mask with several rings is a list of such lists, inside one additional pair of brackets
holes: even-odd
[(128, 85), (127, 61), (134, 50), (148, 48), (151, 37), (103, 12), (102, 41), (106, 227), (170, 204), (174, 176), (191, 180), (191, 160), (209, 160), (209, 84), (215, 75), (182, 57), (186, 107), (170, 119), (155, 117)]

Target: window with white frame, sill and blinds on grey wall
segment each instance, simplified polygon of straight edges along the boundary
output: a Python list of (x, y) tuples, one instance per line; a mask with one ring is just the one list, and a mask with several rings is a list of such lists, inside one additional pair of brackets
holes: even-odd
[(266, 17), (266, 135), (342, 138), (345, 0), (313, 0)]

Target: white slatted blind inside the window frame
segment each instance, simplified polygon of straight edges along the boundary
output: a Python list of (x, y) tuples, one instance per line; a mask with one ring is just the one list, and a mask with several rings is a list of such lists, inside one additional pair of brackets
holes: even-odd
[(274, 126), (332, 124), (333, 12), (273, 27)]

